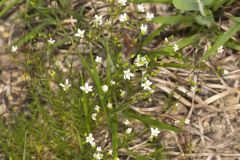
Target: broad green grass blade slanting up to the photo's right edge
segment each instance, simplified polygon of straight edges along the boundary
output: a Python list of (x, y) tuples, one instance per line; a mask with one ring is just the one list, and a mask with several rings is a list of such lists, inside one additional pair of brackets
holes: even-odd
[(217, 54), (217, 49), (223, 46), (237, 31), (240, 30), (240, 23), (234, 24), (228, 31), (220, 35), (215, 44), (203, 55), (200, 61), (208, 59), (210, 56)]

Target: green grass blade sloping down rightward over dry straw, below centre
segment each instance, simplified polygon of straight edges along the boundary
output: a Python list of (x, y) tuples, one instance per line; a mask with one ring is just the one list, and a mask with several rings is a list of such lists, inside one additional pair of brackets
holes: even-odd
[(150, 125), (152, 127), (157, 127), (159, 129), (166, 129), (166, 130), (170, 130), (170, 131), (174, 131), (174, 132), (180, 132), (181, 131), (180, 128), (173, 127), (173, 126), (168, 125), (166, 123), (163, 123), (163, 122), (160, 122), (158, 120), (152, 119), (150, 116), (141, 115), (141, 114), (138, 114), (138, 113), (130, 111), (130, 110), (126, 110), (125, 112), (123, 112), (123, 114), (125, 116), (127, 116), (128, 118), (137, 119), (137, 120), (141, 121), (142, 123), (145, 123), (145, 124)]

